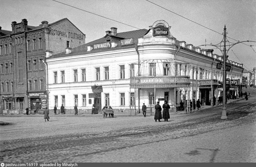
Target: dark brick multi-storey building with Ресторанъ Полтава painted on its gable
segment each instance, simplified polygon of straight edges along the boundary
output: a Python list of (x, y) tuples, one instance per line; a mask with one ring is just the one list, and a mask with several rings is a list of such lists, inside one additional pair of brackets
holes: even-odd
[(42, 112), (47, 102), (45, 51), (62, 52), (85, 43), (85, 34), (67, 18), (29, 26), (27, 19), (13, 21), (12, 31), (0, 27), (1, 111)]

